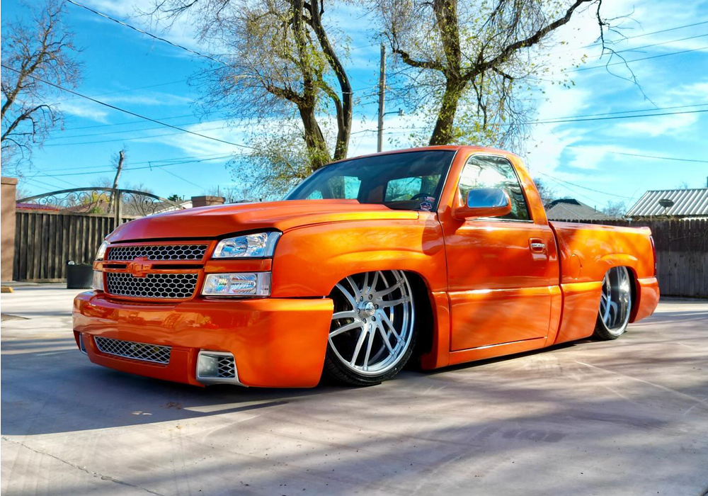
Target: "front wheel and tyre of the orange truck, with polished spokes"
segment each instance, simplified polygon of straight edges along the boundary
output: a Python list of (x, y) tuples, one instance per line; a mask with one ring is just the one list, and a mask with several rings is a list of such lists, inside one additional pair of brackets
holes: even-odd
[(334, 313), (325, 370), (350, 384), (393, 377), (413, 351), (413, 292), (402, 271), (348, 276), (330, 294)]

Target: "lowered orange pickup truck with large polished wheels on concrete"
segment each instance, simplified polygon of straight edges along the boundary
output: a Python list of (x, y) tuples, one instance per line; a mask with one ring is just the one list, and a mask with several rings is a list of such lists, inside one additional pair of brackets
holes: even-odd
[(594, 336), (658, 303), (649, 229), (549, 222), (520, 159), (426, 147), (346, 159), (283, 201), (120, 225), (79, 349), (194, 385), (377, 384)]

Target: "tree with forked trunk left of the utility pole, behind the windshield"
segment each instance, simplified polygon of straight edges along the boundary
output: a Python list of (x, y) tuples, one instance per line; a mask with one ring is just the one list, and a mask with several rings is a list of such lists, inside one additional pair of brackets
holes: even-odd
[[(331, 39), (321, 0), (158, 0), (151, 13), (169, 21), (192, 16), (200, 40), (225, 52), (214, 55), (223, 64), (197, 78), (207, 89), (207, 109), (253, 118), (274, 134), (275, 120), (295, 114), (310, 169), (346, 157), (353, 109), (341, 60), (346, 43)], [(332, 108), (333, 147), (321, 123)]]

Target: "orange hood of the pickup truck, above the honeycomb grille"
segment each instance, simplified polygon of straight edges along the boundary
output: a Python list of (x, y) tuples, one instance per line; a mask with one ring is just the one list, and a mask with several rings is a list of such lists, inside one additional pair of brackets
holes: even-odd
[(108, 242), (141, 239), (208, 239), (254, 229), (287, 231), (304, 225), (346, 220), (414, 220), (418, 212), (392, 210), (356, 200), (296, 200), (187, 208), (121, 224)]

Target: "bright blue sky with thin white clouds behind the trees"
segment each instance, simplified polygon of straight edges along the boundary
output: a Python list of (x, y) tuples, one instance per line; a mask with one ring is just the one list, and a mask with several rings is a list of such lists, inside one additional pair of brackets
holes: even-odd
[[(86, 4), (151, 29), (141, 19), (130, 18), (135, 13), (131, 1), (86, 0)], [(142, 0), (141, 4), (146, 6), (148, 1)], [(535, 92), (537, 120), (656, 107), (682, 107), (663, 112), (707, 110), (708, 23), (647, 33), (708, 21), (708, 2), (650, 0), (633, 5), (616, 1), (610, 8), (617, 14), (634, 9), (633, 21), (626, 23), (624, 30), (632, 38), (616, 47), (628, 50), (622, 53), (627, 60), (661, 55), (630, 64), (648, 98), (634, 84), (608, 74), (604, 68), (571, 72), (568, 75), (575, 85), (569, 89), (542, 82), (544, 94)], [(23, 9), (16, 0), (4, 0), (3, 21), (22, 15)], [(331, 23), (351, 40), (353, 50), (347, 66), (353, 87), (362, 90), (353, 131), (364, 131), (375, 128), (377, 106), (372, 86), (377, 80), (379, 47), (372, 43), (370, 32), (350, 28), (369, 24), (358, 16), (355, 7), (346, 7), (331, 16)], [(353, 23), (351, 18), (358, 21)], [(81, 59), (86, 70), (78, 91), (205, 135), (231, 142), (243, 140), (242, 130), (229, 128), (219, 120), (219, 114), (199, 122), (193, 102), (200, 94), (186, 79), (205, 67), (200, 57), (76, 6), (69, 6), (67, 21), (76, 32), (77, 44), (84, 48)], [(552, 50), (550, 74), (571, 70), (573, 62), (583, 54), (588, 55), (583, 67), (604, 63), (598, 60), (598, 47), (583, 48), (595, 41), (597, 28), (593, 23), (590, 14), (579, 16), (556, 34), (556, 41), (563, 45)], [(158, 32), (159, 28), (152, 26), (152, 30)], [(178, 23), (166, 38), (200, 50), (188, 22)], [(675, 52), (684, 53), (668, 55)], [(627, 74), (622, 66), (612, 69)], [(169, 128), (156, 129), (158, 126), (153, 123), (139, 122), (78, 97), (61, 95), (57, 101), (67, 115), (65, 129), (53, 133), (42, 150), (35, 150), (34, 168), (20, 184), (28, 193), (89, 186), (99, 178), (112, 178), (110, 157), (123, 145), (128, 154), (120, 181), (123, 187), (142, 184), (161, 196), (189, 197), (217, 185), (232, 184), (232, 176), (225, 167), (226, 157), (239, 150), (231, 145)], [(400, 129), (410, 123), (409, 117), (387, 116), (387, 139), (404, 135), (406, 132)], [(705, 162), (636, 155), (707, 160), (707, 136), (708, 113), (543, 124), (532, 128), (532, 140), (527, 144), (524, 158), (532, 175), (546, 180), (561, 196), (572, 196), (598, 208), (618, 200), (631, 205), (648, 189), (674, 188), (684, 182), (690, 187), (705, 187), (708, 176)], [(355, 133), (350, 154), (375, 152), (375, 147), (375, 133)], [(385, 146), (390, 147), (390, 143)], [(189, 162), (194, 159), (200, 162)], [(170, 165), (155, 167), (165, 164)]]

